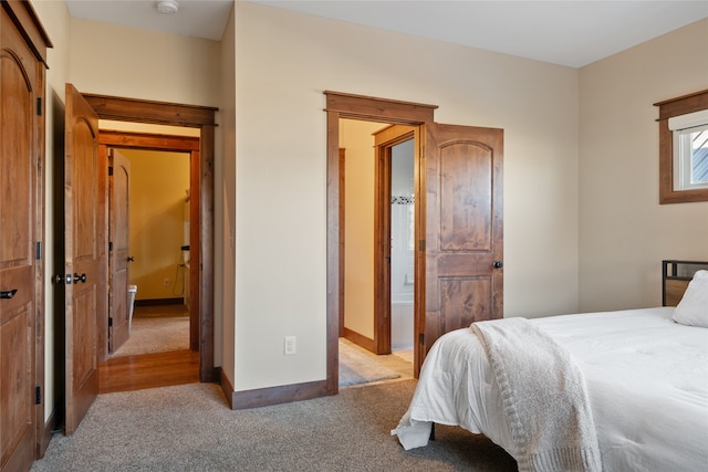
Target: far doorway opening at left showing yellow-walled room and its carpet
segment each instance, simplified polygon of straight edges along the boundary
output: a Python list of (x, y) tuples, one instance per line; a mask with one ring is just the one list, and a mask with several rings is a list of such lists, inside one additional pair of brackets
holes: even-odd
[[(113, 357), (190, 348), (189, 339), (189, 153), (112, 147), (129, 169), (127, 200), (129, 292), (125, 343), (110, 349)], [(113, 178), (115, 178), (115, 165)], [(111, 201), (111, 208), (119, 207)], [(116, 250), (115, 240), (112, 239)], [(123, 261), (121, 261), (123, 262)], [(111, 286), (115, 294), (118, 286)], [(132, 289), (132, 290), (131, 290)], [(123, 291), (119, 291), (123, 294)], [(132, 303), (131, 303), (132, 302)], [(117, 311), (116, 311), (117, 312)], [(110, 323), (110, 340), (116, 326)]]

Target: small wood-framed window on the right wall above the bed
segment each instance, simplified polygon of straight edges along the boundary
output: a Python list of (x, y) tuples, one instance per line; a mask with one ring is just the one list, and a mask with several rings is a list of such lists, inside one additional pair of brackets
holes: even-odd
[(659, 203), (708, 201), (708, 91), (659, 107)]

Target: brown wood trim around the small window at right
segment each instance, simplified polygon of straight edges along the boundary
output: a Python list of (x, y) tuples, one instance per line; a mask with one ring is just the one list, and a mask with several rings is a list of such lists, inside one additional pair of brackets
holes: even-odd
[(674, 134), (668, 118), (708, 109), (708, 90), (654, 104), (659, 107), (659, 203), (708, 201), (708, 189), (674, 190)]

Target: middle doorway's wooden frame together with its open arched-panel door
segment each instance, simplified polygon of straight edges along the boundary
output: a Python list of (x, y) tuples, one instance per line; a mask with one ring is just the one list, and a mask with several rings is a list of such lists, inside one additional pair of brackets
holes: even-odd
[[(435, 340), (503, 316), (503, 129), (434, 122), (434, 105), (324, 92), (327, 114), (327, 379), (339, 381), (341, 118), (414, 128), (414, 375)], [(389, 293), (389, 292), (387, 292)]]

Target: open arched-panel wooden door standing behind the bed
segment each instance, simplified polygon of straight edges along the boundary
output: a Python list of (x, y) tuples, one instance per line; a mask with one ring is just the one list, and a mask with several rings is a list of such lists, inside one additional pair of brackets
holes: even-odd
[[(418, 206), (416, 375), (433, 343), (503, 316), (503, 130), (426, 124)], [(420, 315), (424, 315), (423, 318)]]

